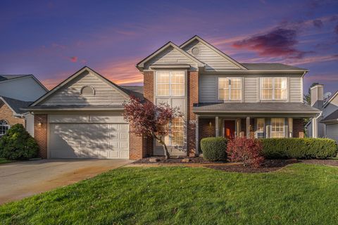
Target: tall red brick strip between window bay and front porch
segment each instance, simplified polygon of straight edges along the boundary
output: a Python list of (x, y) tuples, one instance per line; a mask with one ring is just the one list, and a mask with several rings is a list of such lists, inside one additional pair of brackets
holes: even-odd
[(196, 154), (196, 115), (192, 112), (194, 103), (199, 103), (199, 72), (189, 71), (187, 74), (187, 148), (190, 156)]

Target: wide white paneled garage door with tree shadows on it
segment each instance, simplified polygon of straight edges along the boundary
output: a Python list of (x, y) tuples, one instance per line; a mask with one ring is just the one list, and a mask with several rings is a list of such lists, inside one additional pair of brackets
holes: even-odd
[(127, 159), (128, 124), (49, 123), (49, 157)]

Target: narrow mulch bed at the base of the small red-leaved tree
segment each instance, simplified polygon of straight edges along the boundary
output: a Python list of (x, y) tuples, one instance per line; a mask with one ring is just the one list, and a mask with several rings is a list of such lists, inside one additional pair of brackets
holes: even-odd
[[(151, 162), (152, 160), (158, 159), (157, 162)], [(189, 160), (189, 162), (182, 162), (182, 160)], [(200, 163), (200, 164), (210, 164), (210, 163), (223, 163), (222, 161), (218, 162), (211, 162), (208, 160), (204, 160), (202, 157), (194, 157), (194, 158), (170, 158), (168, 160), (165, 160), (164, 156), (157, 156), (157, 157), (149, 157), (149, 158), (143, 158), (141, 160), (137, 160), (133, 162), (134, 164), (139, 164), (139, 163), (150, 163), (150, 164), (155, 164), (155, 163)]]

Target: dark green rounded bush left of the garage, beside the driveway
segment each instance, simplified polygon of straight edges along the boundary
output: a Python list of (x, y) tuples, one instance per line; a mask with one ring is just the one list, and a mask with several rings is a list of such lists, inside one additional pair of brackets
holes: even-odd
[(0, 157), (7, 160), (26, 160), (37, 157), (39, 146), (22, 124), (15, 124), (0, 139)]

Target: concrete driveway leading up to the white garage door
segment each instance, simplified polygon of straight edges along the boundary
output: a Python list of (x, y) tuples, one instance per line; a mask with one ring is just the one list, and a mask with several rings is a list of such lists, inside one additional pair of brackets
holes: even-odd
[(0, 165), (0, 204), (74, 184), (130, 160), (37, 160)]

